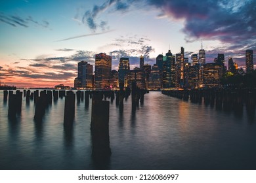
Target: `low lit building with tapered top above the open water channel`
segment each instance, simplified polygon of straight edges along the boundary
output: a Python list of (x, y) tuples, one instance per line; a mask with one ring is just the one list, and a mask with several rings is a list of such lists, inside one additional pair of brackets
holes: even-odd
[(154, 64), (149, 75), (148, 80), (149, 90), (160, 90), (161, 89), (161, 73), (158, 69), (158, 65)]

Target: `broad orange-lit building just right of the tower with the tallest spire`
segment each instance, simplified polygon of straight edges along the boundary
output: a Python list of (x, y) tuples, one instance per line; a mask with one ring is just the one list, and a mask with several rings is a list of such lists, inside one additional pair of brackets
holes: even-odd
[(220, 86), (220, 78), (223, 67), (218, 63), (207, 63), (203, 65), (203, 84), (205, 88)]

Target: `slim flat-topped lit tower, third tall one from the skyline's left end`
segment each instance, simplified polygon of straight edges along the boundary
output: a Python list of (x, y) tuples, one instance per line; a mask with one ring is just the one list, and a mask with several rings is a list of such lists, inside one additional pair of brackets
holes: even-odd
[(124, 87), (129, 84), (130, 62), (129, 58), (120, 58), (118, 67), (118, 82), (123, 82)]

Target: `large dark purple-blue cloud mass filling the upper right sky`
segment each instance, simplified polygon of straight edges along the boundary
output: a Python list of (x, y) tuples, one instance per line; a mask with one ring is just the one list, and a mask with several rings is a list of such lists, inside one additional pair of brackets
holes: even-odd
[(170, 18), (183, 19), (186, 41), (219, 40), (253, 44), (256, 40), (256, 1), (148, 0)]

